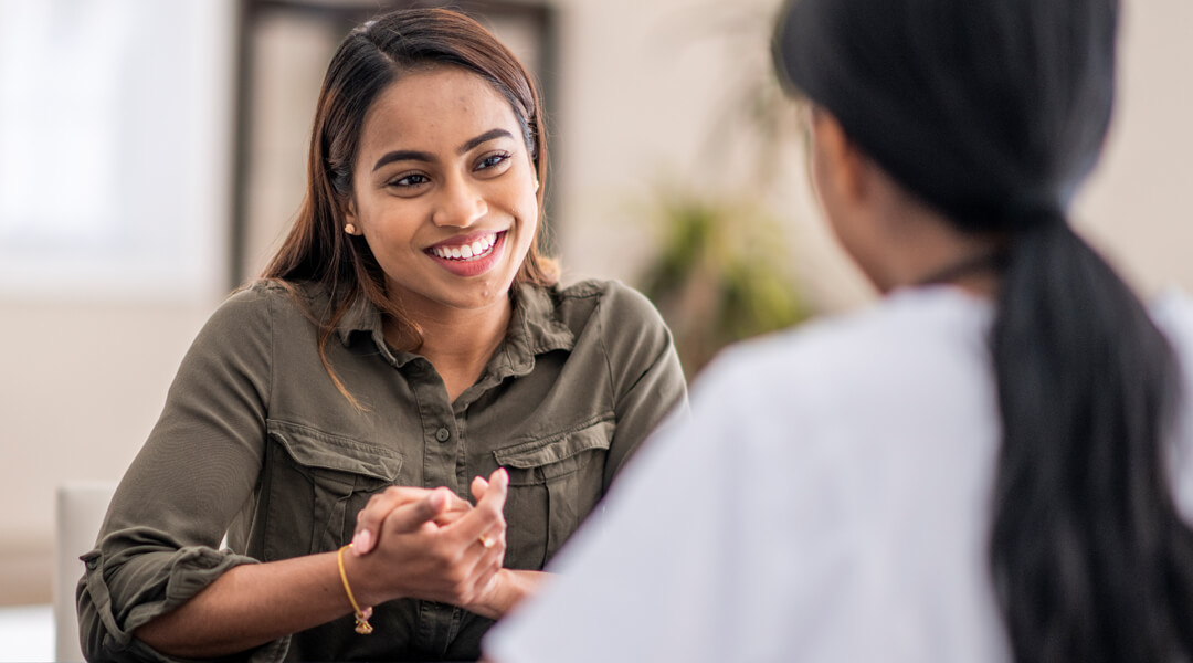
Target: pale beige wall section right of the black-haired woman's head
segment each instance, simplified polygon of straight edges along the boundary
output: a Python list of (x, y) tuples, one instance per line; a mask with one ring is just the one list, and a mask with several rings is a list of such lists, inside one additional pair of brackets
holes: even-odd
[(1124, 13), (1117, 116), (1077, 225), (1141, 290), (1193, 291), (1193, 2)]

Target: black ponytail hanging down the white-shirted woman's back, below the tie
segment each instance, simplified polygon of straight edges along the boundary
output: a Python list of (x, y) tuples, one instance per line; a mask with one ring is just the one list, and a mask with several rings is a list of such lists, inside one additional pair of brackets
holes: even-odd
[(1019, 233), (1007, 258), (990, 559), (1015, 661), (1188, 657), (1193, 539), (1164, 466), (1173, 352), (1063, 218)]

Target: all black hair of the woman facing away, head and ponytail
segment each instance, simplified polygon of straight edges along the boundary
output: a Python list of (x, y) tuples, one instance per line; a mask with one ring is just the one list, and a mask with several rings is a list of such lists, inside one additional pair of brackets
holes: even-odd
[(777, 64), (960, 230), (1006, 237), (989, 559), (1016, 661), (1193, 659), (1193, 533), (1166, 461), (1179, 376), (1073, 233), (1114, 93), (1115, 0), (797, 0)]

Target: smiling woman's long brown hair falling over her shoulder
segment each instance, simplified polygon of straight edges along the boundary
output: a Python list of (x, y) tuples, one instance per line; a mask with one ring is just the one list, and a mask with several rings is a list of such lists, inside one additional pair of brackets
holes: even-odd
[[(476, 73), (509, 101), (536, 175), (546, 180), (546, 129), (538, 88), (513, 52), (481, 24), (449, 10), (398, 10), (360, 25), (344, 39), (319, 93), (307, 161), (307, 194), (290, 234), (261, 275), (283, 284), (316, 281), (332, 293), (332, 310), (313, 316), (322, 326), (319, 355), (353, 404), (357, 401), (332, 370), (326, 348), (335, 326), (358, 297), (366, 297), (389, 316), (413, 345), (421, 339), (401, 304), (385, 296), (384, 273), (364, 237), (344, 231), (360, 132), (373, 100), (403, 73), (444, 64)], [(545, 193), (545, 186), (539, 188), (539, 227)], [(515, 284), (556, 283), (558, 267), (543, 255), (542, 241), (539, 228), (537, 241), (514, 277)]]

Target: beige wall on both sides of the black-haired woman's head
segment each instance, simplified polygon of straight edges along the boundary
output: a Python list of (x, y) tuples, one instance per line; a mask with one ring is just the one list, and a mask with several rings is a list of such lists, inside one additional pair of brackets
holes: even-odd
[[(555, 129), (565, 163), (556, 182), (567, 193), (557, 215), (565, 266), (573, 277), (632, 278), (649, 248), (632, 200), (661, 174), (699, 181), (713, 169), (700, 138), (712, 109), (723, 106), (722, 91), (742, 74), (727, 61), (727, 52), (741, 57), (727, 47), (731, 41), (693, 35), (710, 23), (730, 32), (734, 16), (755, 10), (703, 0), (561, 4), (567, 75)], [(747, 6), (766, 14), (774, 2)], [(1124, 7), (1117, 114), (1075, 223), (1141, 290), (1193, 290), (1186, 196), (1193, 187), (1193, 4), (1124, 0)], [(792, 252), (810, 297), (824, 309), (867, 299), (869, 287), (820, 219), (802, 159), (787, 166)]]

